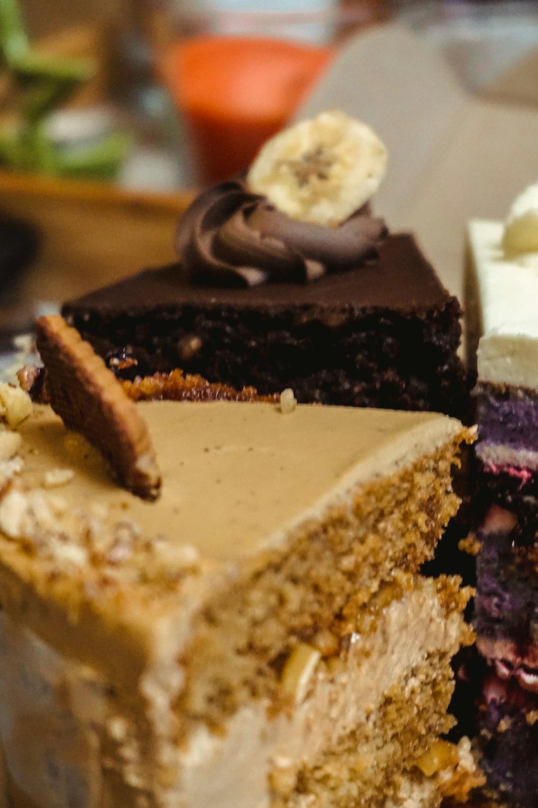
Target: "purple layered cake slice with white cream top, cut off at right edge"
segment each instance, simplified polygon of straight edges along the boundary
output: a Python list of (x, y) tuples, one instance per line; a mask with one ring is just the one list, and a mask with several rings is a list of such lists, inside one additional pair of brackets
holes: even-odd
[(538, 186), (506, 224), (473, 221), (476, 292), (477, 648), (487, 663), (482, 765), (509, 804), (535, 806), (538, 781)]

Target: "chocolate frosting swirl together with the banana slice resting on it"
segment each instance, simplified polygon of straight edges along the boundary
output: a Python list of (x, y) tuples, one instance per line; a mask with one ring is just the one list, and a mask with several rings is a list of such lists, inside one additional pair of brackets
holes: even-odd
[(176, 248), (212, 285), (309, 282), (356, 267), (385, 237), (369, 200), (387, 151), (372, 129), (322, 112), (263, 146), (246, 176), (204, 191), (179, 223)]

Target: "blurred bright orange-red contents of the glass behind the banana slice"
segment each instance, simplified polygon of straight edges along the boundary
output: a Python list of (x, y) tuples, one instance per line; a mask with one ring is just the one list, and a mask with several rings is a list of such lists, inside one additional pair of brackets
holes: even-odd
[(292, 116), (333, 57), (286, 40), (199, 36), (174, 47), (167, 75), (201, 184), (228, 179)]

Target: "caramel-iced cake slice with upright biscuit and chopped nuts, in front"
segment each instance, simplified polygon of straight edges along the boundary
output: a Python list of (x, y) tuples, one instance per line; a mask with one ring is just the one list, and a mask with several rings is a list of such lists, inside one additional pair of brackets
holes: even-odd
[(0, 385), (11, 804), (464, 801), (469, 742), (439, 736), (469, 591), (419, 567), (473, 431), (291, 391), (135, 405), (61, 319), (38, 342), (52, 406)]

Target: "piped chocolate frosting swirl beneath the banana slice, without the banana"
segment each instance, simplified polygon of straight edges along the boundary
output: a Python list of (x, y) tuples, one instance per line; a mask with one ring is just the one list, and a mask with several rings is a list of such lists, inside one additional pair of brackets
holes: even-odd
[(281, 213), (238, 178), (194, 200), (179, 221), (175, 246), (196, 282), (305, 283), (358, 267), (386, 233), (368, 204), (336, 227), (313, 225)]

